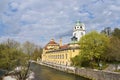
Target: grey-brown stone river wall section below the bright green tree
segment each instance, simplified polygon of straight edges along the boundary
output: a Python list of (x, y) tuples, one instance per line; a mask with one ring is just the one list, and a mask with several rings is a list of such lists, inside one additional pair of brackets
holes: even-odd
[(120, 73), (108, 72), (103, 70), (76, 68), (75, 74), (84, 76), (93, 80), (120, 80)]

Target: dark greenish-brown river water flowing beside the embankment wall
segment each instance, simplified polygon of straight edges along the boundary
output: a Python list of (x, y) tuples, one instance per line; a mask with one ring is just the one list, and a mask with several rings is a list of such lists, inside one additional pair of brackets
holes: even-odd
[(35, 73), (34, 80), (89, 80), (35, 63), (31, 64), (31, 70)]

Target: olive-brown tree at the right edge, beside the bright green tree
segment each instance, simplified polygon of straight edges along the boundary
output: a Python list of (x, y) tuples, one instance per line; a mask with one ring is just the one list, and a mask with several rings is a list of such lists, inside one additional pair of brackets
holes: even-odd
[(120, 29), (115, 28), (110, 37), (110, 45), (106, 52), (106, 60), (109, 63), (115, 64), (115, 69), (118, 69), (120, 63)]

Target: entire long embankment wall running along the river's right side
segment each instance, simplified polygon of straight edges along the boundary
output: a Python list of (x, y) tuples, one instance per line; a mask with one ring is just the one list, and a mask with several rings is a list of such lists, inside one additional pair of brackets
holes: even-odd
[(83, 76), (93, 80), (120, 80), (119, 72), (109, 72), (104, 70), (77, 68), (71, 66), (57, 65), (45, 62), (35, 62), (40, 65), (51, 67), (63, 72), (72, 73), (75, 75)]

